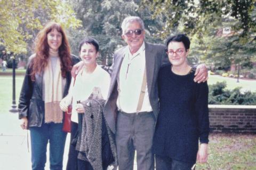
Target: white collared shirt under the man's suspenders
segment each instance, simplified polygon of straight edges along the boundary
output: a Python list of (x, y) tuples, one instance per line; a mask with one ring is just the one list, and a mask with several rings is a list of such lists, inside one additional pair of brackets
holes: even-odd
[[(117, 99), (118, 109), (127, 113), (137, 112), (145, 67), (145, 43), (143, 42), (139, 50), (133, 55), (129, 50), (129, 46), (127, 46), (120, 68), (119, 77), (117, 77), (119, 86)], [(147, 85), (140, 111), (152, 111)]]

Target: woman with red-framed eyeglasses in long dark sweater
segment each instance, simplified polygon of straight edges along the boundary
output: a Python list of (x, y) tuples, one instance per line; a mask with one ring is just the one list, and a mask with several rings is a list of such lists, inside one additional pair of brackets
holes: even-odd
[(158, 73), (159, 115), (153, 152), (159, 170), (191, 169), (196, 161), (207, 161), (208, 86), (193, 80), (195, 71), (187, 63), (189, 46), (183, 34), (167, 39), (171, 65)]

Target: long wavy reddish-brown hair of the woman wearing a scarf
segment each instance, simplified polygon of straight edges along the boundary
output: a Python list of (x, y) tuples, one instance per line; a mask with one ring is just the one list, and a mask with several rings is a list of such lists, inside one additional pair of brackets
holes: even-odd
[(60, 56), (60, 68), (61, 76), (66, 77), (66, 73), (72, 69), (72, 61), (70, 57), (70, 47), (68, 43), (67, 36), (65, 31), (56, 22), (48, 22), (44, 28), (39, 31), (36, 36), (35, 42), (35, 58), (31, 61), (31, 79), (35, 81), (36, 73), (41, 74), (44, 71), (44, 68), (47, 66), (49, 59), (49, 44), (47, 43), (47, 34), (52, 30), (56, 29), (62, 35), (62, 42), (59, 47), (59, 56)]

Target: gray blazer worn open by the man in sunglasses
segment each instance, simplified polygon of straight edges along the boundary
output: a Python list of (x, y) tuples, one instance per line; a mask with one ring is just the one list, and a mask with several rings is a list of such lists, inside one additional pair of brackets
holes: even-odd
[[(125, 46), (126, 47), (126, 46)], [(117, 75), (121, 68), (124, 58), (125, 47), (120, 48), (114, 54), (114, 63), (111, 66), (111, 80), (108, 92), (107, 101), (104, 107), (104, 116), (113, 133), (116, 132), (117, 106)], [(158, 89), (157, 89), (157, 74), (159, 68), (165, 64), (170, 64), (165, 53), (165, 46), (161, 44), (151, 44), (145, 42), (145, 57), (147, 71), (147, 86), (149, 93), (149, 101), (153, 109), (155, 118), (158, 115)]]

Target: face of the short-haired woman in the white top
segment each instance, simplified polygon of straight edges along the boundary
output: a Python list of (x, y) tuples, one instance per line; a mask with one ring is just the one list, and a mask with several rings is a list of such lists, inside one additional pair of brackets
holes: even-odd
[(94, 45), (89, 43), (84, 43), (80, 50), (80, 57), (85, 65), (96, 64), (96, 59), (99, 52), (96, 51)]

